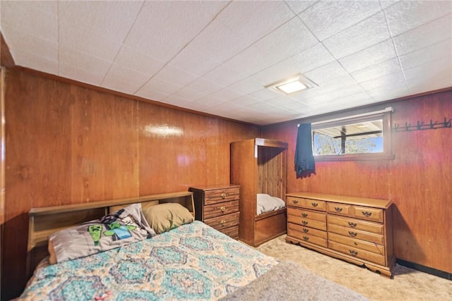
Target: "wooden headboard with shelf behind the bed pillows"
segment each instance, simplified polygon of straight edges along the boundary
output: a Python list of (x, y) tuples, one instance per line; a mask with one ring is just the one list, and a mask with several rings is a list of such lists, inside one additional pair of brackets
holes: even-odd
[(191, 214), (195, 216), (193, 192), (187, 191), (32, 208), (28, 212), (28, 276), (31, 275), (37, 264), (47, 256), (47, 238), (49, 235), (86, 221), (100, 219), (110, 212), (117, 211), (133, 203), (141, 203), (143, 208), (163, 203), (179, 203), (189, 209)]

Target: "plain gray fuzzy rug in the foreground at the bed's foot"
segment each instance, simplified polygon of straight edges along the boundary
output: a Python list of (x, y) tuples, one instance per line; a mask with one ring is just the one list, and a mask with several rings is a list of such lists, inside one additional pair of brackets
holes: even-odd
[(249, 285), (235, 290), (220, 300), (362, 301), (368, 299), (349, 288), (307, 271), (296, 262), (284, 260)]

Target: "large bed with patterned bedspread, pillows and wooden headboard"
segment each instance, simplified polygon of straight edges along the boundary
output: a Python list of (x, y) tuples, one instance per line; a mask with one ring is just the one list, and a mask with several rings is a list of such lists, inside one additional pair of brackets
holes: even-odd
[[(177, 210), (183, 208), (183, 214), (174, 211), (173, 205)], [(302, 273), (297, 264), (280, 264), (205, 223), (194, 221), (191, 192), (37, 208), (30, 210), (29, 216), (28, 264), (34, 272), (18, 300), (258, 300), (246, 294), (251, 291), (260, 292), (259, 300), (278, 300), (284, 296), (281, 288), (286, 290), (286, 300), (294, 300), (293, 297), (299, 299), (299, 290), (304, 290), (305, 282), (296, 278), (287, 281), (295, 271)], [(117, 217), (114, 223), (111, 216)], [(72, 253), (58, 254), (61, 233), (89, 228), (93, 221), (111, 226), (126, 219), (124, 225), (130, 232), (154, 232), (153, 235), (78, 258), (69, 258)], [(166, 224), (169, 220), (171, 223)], [(110, 226), (107, 229), (119, 229)], [(96, 241), (97, 245), (105, 245), (102, 240), (110, 238), (109, 231), (103, 232), (102, 238), (91, 232), (84, 236), (92, 245)], [(121, 231), (116, 234), (126, 237)], [(129, 238), (138, 238), (138, 234)], [(51, 251), (50, 256), (45, 250)], [(57, 263), (52, 262), (52, 257), (57, 257)], [(314, 281), (316, 276), (309, 278)], [(306, 277), (303, 281), (307, 281)], [(313, 285), (323, 290), (324, 284)], [(336, 286), (336, 295), (365, 300)]]

